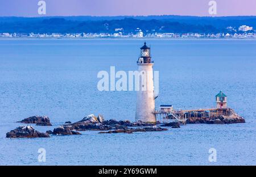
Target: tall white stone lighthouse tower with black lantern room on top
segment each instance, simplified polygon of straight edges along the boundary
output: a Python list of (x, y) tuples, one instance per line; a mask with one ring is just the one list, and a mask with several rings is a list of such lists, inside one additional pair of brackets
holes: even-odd
[(137, 61), (140, 73), (139, 90), (137, 91), (135, 121), (141, 120), (143, 123), (156, 123), (155, 95), (153, 81), (153, 65), (150, 57), (150, 47), (144, 43), (141, 47), (141, 56)]

